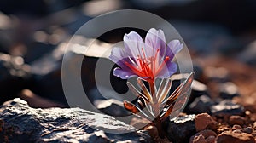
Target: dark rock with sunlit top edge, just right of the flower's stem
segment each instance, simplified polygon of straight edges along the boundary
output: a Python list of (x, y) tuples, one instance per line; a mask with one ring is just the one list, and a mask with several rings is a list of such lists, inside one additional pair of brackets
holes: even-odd
[(195, 134), (195, 115), (186, 115), (166, 119), (167, 138), (173, 143), (189, 142), (189, 137)]

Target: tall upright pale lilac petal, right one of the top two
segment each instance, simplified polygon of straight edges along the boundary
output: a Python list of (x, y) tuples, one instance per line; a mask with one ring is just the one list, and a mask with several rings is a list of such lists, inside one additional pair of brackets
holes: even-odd
[[(157, 49), (160, 49), (160, 55), (163, 55), (166, 49), (166, 37), (162, 30), (151, 28), (145, 38), (145, 43), (152, 50), (147, 50), (148, 56), (154, 56)], [(153, 50), (154, 49), (154, 50)]]

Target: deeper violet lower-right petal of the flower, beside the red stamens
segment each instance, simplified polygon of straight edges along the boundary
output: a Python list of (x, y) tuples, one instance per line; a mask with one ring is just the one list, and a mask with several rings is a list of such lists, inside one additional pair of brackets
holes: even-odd
[(177, 72), (177, 64), (175, 62), (172, 62), (169, 60), (166, 63), (166, 68), (164, 68), (157, 77), (165, 78), (165, 77), (171, 77), (173, 73)]

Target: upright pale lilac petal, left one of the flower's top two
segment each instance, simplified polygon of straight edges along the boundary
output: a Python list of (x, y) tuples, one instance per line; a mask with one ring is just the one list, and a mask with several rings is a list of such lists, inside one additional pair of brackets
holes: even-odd
[(144, 47), (143, 38), (137, 34), (135, 31), (131, 31), (129, 34), (125, 34), (124, 36), (124, 44), (126, 57), (137, 57), (137, 55), (141, 54), (141, 49)]

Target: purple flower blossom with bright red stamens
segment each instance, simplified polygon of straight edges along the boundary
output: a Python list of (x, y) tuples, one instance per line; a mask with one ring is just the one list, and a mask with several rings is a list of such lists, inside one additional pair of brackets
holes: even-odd
[(171, 77), (177, 71), (172, 59), (183, 48), (179, 40), (172, 40), (166, 45), (164, 32), (154, 28), (148, 31), (145, 42), (135, 31), (125, 34), (124, 45), (125, 49), (114, 47), (109, 56), (119, 66), (113, 70), (113, 75), (122, 79)]

